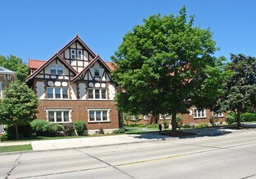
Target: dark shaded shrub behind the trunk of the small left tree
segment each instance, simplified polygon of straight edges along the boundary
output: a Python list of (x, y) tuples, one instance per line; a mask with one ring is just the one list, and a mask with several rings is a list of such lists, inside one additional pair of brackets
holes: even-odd
[[(19, 128), (18, 128), (19, 138), (29, 138), (32, 135), (32, 133), (33, 133), (33, 129), (29, 123), (24, 125), (19, 125)], [(8, 139), (16, 138), (16, 127), (14, 125), (7, 126), (7, 136), (8, 136)]]

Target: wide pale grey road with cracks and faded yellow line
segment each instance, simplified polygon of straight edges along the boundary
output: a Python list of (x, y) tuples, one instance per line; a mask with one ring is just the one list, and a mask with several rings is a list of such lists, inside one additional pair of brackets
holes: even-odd
[(256, 178), (256, 130), (0, 155), (1, 178)]

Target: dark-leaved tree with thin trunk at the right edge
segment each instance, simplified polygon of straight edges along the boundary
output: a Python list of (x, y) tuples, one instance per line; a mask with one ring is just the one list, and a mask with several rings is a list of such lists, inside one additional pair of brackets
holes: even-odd
[(233, 75), (226, 83), (220, 106), (222, 110), (236, 112), (237, 126), (240, 127), (241, 112), (256, 108), (256, 58), (231, 54), (231, 63), (227, 64), (227, 69)]

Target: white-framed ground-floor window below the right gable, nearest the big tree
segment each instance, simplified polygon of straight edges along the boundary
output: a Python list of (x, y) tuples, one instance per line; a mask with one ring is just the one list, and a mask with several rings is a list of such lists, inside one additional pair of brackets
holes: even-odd
[(89, 109), (88, 115), (89, 115), (89, 122), (104, 122), (104, 121), (110, 121), (108, 118), (108, 109)]

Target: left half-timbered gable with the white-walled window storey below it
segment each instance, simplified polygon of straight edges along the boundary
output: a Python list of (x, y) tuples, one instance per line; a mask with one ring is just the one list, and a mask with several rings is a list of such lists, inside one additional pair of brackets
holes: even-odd
[(70, 99), (70, 80), (76, 75), (75, 70), (60, 55), (51, 59), (38, 68), (27, 78), (34, 79), (34, 92), (39, 99)]

